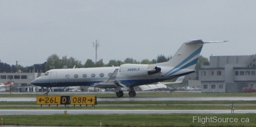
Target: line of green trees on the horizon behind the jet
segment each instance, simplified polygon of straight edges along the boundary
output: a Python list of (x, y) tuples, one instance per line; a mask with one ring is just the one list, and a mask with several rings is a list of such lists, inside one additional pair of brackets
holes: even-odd
[[(46, 62), (43, 64), (34, 64), (32, 66), (23, 67), (21, 65), (9, 65), (1, 62), (0, 60), (0, 73), (16, 73), (20, 70), (23, 73), (32, 73), (32, 72), (42, 72), (45, 73), (50, 69), (62, 69), (62, 68), (89, 68), (89, 67), (111, 67), (111, 66), (120, 66), (122, 64), (156, 64), (167, 62), (172, 58), (172, 56), (158, 55), (156, 59), (148, 60), (143, 59), (141, 62), (134, 60), (133, 58), (126, 58), (124, 61), (121, 60), (109, 60), (108, 64), (99, 60), (98, 62), (93, 62), (91, 59), (87, 59), (84, 64), (81, 61), (76, 60), (73, 57), (68, 58), (67, 56), (59, 57), (57, 54), (52, 54), (46, 59)], [(209, 65), (208, 58), (200, 56), (198, 59), (198, 63), (196, 69), (199, 69), (201, 65)]]

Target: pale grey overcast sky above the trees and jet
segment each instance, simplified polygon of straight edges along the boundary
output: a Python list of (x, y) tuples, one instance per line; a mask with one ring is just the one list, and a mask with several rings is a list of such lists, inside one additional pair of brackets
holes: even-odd
[(1, 0), (0, 59), (22, 66), (48, 56), (98, 60), (171, 56), (183, 42), (208, 57), (256, 54), (256, 0)]

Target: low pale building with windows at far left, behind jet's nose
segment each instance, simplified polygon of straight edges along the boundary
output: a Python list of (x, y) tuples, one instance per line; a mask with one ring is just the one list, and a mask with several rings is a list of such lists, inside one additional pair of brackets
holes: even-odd
[(29, 87), (34, 86), (30, 84), (32, 80), (41, 76), (43, 73), (0, 73), (0, 82), (7, 83), (13, 81), (13, 90), (17, 87)]

